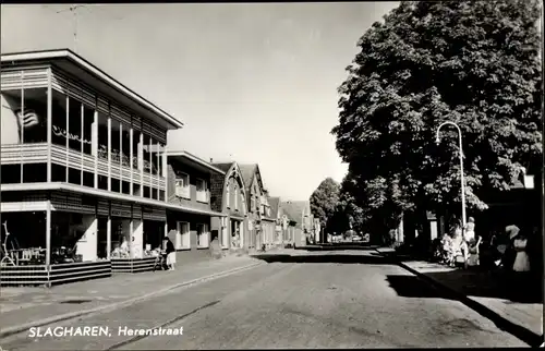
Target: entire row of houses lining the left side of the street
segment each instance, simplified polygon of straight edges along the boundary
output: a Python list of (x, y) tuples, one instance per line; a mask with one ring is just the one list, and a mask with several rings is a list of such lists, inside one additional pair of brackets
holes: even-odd
[(74, 52), (1, 63), (2, 285), (149, 269), (166, 235), (183, 264), (215, 240), (251, 251), (319, 231), (307, 201), (269, 195), (257, 164), (169, 149), (183, 123)]

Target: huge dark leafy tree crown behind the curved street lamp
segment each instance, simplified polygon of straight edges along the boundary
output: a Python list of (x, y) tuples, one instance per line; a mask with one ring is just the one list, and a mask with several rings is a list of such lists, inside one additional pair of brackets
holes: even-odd
[[(536, 0), (402, 2), (359, 40), (331, 133), (350, 192), (372, 216), (468, 206), (542, 155)], [(391, 225), (391, 223), (390, 223)]]

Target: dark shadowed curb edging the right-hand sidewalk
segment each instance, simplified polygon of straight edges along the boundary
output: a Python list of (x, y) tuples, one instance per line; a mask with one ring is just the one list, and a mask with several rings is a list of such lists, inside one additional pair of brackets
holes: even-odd
[[(379, 253), (380, 255), (383, 255), (383, 253), (380, 253), (378, 250), (376, 250), (376, 252)], [(443, 290), (451, 298), (460, 301), (461, 303), (463, 303), (464, 305), (467, 305), (471, 310), (475, 311), (476, 313), (479, 313), (483, 317), (488, 318), (499, 329), (511, 334), (516, 338), (524, 341), (525, 343), (528, 343), (529, 346), (531, 346), (533, 348), (538, 347), (540, 344), (543, 343), (543, 336), (542, 335), (537, 335), (537, 334), (533, 332), (532, 330), (530, 330), (521, 325), (512, 323), (511, 320), (501, 316), (500, 314), (498, 314), (494, 310), (489, 308), (488, 306), (469, 298), (468, 295), (465, 295), (461, 292), (456, 291), (455, 289), (447, 287), (446, 285), (438, 282), (437, 280), (435, 280), (433, 278), (429, 278), (425, 274), (420, 273), (414, 268), (409, 267), (403, 262), (397, 259), (397, 257), (395, 257), (395, 259), (396, 259), (396, 263), (401, 268), (409, 270), (410, 273), (412, 273), (416, 277), (421, 278), (422, 280), (428, 282), (429, 285), (434, 286), (435, 288), (438, 288), (439, 290)]]

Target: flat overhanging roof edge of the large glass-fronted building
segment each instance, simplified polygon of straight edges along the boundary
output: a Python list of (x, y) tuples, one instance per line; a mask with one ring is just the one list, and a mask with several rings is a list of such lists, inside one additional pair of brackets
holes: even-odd
[[(177, 120), (173, 116), (167, 113), (149, 100), (145, 99), (141, 95), (136, 94), (125, 85), (121, 84), (112, 76), (74, 53), (70, 49), (55, 49), (55, 50), (41, 50), (41, 51), (24, 51), (24, 52), (10, 52), (1, 55), (2, 69), (9, 68), (9, 64), (17, 64), (21, 62), (43, 62), (43, 61), (59, 61), (66, 62), (71, 66), (75, 66), (78, 70), (83, 70), (86, 74), (92, 77), (106, 83), (109, 87), (113, 88), (116, 92), (122, 96), (128, 97), (130, 100), (136, 102), (136, 105), (143, 107), (145, 110), (160, 117), (165, 122), (167, 122), (171, 129), (182, 128), (183, 123)], [(80, 75), (78, 75), (80, 76)]]

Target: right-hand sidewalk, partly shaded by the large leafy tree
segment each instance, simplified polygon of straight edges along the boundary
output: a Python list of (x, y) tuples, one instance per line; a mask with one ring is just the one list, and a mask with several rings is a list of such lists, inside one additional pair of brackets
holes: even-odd
[[(378, 249), (377, 252), (396, 256), (392, 249)], [(543, 339), (541, 287), (525, 287), (524, 281), (509, 282), (505, 275), (493, 271), (450, 268), (435, 263), (410, 261), (405, 257), (398, 263), (417, 276), (453, 292), (461, 298), (460, 300), (468, 299), (477, 308), (480, 306), (488, 310), (493, 318), (499, 316), (510, 324), (522, 327), (525, 330), (519, 328), (521, 332), (530, 331), (526, 332), (530, 338)], [(535, 293), (529, 295), (525, 289)]]

